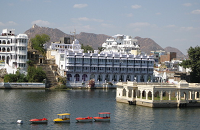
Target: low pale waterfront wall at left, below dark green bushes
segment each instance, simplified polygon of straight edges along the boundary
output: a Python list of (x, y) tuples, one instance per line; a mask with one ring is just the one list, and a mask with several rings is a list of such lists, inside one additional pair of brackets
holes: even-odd
[(0, 88), (45, 88), (45, 83), (0, 83)]

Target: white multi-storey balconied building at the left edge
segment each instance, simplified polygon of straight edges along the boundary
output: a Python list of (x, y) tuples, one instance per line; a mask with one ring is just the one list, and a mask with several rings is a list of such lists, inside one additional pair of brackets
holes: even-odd
[(25, 73), (28, 36), (15, 35), (14, 31), (3, 29), (0, 36), (0, 69), (6, 68), (7, 73), (15, 73), (20, 68), (20, 71)]

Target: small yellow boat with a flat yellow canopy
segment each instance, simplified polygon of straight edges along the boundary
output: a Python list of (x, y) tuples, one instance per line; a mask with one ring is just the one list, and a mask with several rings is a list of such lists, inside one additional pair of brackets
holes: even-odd
[(69, 113), (63, 113), (63, 114), (57, 114), (57, 115), (58, 115), (58, 118), (53, 120), (55, 123), (70, 122), (70, 114)]

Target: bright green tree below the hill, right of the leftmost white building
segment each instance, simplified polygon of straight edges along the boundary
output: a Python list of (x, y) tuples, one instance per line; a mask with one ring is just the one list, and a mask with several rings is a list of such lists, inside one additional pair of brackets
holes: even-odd
[(42, 55), (45, 56), (46, 50), (44, 44), (50, 40), (50, 37), (46, 34), (37, 34), (34, 38), (31, 38), (31, 43), (34, 49), (38, 50)]

